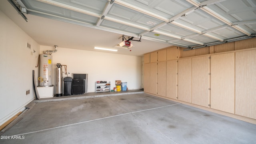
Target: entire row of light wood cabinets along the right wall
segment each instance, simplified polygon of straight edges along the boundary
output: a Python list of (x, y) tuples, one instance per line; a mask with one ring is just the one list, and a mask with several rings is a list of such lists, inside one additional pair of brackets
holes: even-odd
[(144, 91), (256, 120), (255, 40), (145, 54)]

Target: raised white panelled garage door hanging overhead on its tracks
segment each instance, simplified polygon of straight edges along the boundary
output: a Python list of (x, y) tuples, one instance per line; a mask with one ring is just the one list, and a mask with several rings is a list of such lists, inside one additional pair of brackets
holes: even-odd
[[(139, 40), (141, 36), (142, 42), (149, 40), (193, 49), (256, 35), (256, 0), (18, 2), (27, 8), (28, 15), (113, 32), (119, 34), (120, 42), (122, 35), (134, 37), (134, 40)], [(112, 47), (116, 47), (116, 44), (113, 42)]]

